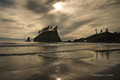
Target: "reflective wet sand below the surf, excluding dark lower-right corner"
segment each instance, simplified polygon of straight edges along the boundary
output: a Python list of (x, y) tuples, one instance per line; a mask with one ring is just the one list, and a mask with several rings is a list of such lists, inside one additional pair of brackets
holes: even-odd
[[(1, 61), (3, 66), (0, 69), (2, 75), (0, 80), (90, 80), (81, 78), (105, 70), (106, 66), (119, 63), (120, 55), (117, 49), (116, 52), (111, 50), (64, 52), (63, 48), (66, 49), (66, 46), (39, 46), (34, 49), (46, 52), (45, 54), (1, 57), (4, 61)], [(68, 48), (66, 50), (71, 50)]]

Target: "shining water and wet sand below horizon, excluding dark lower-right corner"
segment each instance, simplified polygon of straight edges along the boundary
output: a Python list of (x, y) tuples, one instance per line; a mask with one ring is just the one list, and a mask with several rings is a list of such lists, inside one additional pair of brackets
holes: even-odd
[(0, 42), (0, 80), (84, 80), (118, 64), (119, 43)]

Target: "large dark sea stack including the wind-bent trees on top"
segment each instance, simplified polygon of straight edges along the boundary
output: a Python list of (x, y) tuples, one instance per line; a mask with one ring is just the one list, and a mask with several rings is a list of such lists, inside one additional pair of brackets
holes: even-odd
[(35, 42), (62, 42), (58, 35), (58, 27), (48, 26), (40, 30), (39, 35), (34, 38)]

